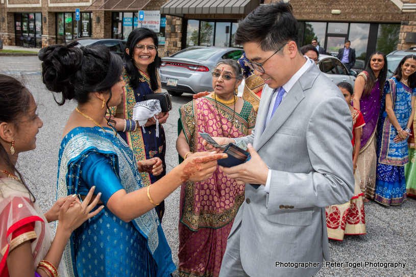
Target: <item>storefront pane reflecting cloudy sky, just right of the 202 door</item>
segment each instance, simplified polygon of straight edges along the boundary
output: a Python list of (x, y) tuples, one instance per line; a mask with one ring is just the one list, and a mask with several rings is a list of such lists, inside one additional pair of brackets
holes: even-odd
[(367, 44), (369, 40), (370, 23), (351, 23), (350, 36), (351, 47), (355, 49), (357, 60), (365, 60)]

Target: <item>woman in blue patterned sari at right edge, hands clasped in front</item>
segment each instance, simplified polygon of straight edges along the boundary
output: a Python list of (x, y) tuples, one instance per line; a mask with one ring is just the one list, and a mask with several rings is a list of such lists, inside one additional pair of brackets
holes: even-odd
[(377, 137), (377, 173), (374, 200), (400, 205), (406, 200), (404, 165), (409, 162), (410, 135), (416, 98), (416, 56), (408, 55), (385, 82)]

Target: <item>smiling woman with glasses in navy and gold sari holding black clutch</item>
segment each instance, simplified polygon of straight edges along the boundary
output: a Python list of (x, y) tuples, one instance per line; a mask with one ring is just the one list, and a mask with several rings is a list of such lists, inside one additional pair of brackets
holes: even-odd
[[(132, 120), (133, 106), (136, 102), (143, 101), (143, 96), (146, 94), (162, 91), (157, 71), (160, 66), (157, 47), (158, 38), (152, 30), (137, 28), (130, 33), (123, 60), (125, 67), (123, 80), (126, 82), (126, 87), (123, 90), (121, 103), (111, 108), (111, 113), (115, 116), (115, 129), (133, 150), (137, 160), (157, 162), (157, 159), (160, 159), (162, 161), (161, 174), (141, 173), (141, 180), (145, 186), (153, 184), (166, 174), (166, 138), (161, 124), (166, 122), (169, 113), (157, 115), (158, 123), (153, 118), (149, 118), (143, 127), (138, 126)], [(159, 125), (158, 135), (156, 124)], [(156, 212), (162, 221), (163, 201), (156, 207)]]

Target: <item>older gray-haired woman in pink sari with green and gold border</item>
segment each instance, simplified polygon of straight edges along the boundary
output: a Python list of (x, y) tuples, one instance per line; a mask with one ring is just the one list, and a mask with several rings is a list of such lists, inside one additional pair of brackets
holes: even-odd
[[(183, 158), (205, 151), (199, 133), (240, 137), (251, 134), (256, 121), (252, 104), (234, 95), (242, 80), (234, 60), (219, 61), (212, 71), (214, 92), (179, 109), (176, 149)], [(217, 169), (202, 182), (181, 187), (179, 276), (218, 276), (234, 217), (244, 200), (237, 185)]]

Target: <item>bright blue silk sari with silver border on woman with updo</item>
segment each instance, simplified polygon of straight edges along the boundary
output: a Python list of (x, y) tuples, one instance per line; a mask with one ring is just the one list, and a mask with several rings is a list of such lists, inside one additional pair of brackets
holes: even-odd
[[(63, 138), (59, 150), (58, 198), (85, 194), (86, 188), (82, 186), (86, 182), (81, 169), (89, 156), (107, 161), (109, 171), (112, 169), (113, 177), (115, 173), (119, 180), (118, 186), (86, 184), (88, 187), (96, 185), (94, 194), (103, 193), (101, 200), (105, 206), (110, 195), (108, 191), (124, 188), (129, 193), (143, 187), (132, 150), (114, 136), (111, 129), (106, 130), (78, 127)], [(87, 175), (91, 174), (106, 176), (108, 172), (92, 171)], [(175, 270), (154, 209), (126, 223), (105, 207), (72, 233), (62, 261), (69, 276), (170, 276)]]

